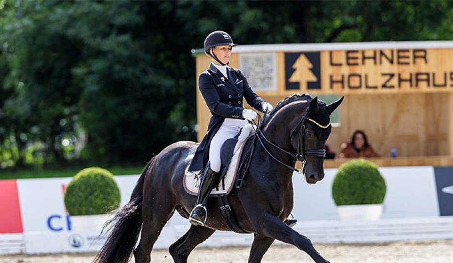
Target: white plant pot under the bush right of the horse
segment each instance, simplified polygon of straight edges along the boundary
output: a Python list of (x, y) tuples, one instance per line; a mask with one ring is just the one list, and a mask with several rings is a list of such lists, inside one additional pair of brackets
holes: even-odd
[(341, 221), (378, 220), (382, 214), (382, 204), (339, 205), (337, 211)]

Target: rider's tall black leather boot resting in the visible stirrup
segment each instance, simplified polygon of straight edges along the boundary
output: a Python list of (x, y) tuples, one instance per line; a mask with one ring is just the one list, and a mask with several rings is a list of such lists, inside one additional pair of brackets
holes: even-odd
[(207, 167), (204, 169), (201, 178), (200, 188), (198, 189), (197, 205), (193, 208), (189, 216), (189, 222), (195, 226), (204, 226), (207, 217), (206, 202), (208, 200), (209, 193), (214, 187), (214, 184), (216, 182), (219, 183), (218, 180), (216, 180), (218, 173), (214, 172), (209, 164), (206, 166)]

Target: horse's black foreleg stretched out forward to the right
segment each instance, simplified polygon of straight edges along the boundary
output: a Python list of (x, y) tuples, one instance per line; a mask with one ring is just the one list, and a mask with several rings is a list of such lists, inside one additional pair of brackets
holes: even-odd
[(264, 218), (265, 220), (264, 222), (262, 221), (262, 224), (259, 224), (259, 226), (266, 227), (257, 229), (259, 234), (296, 246), (305, 251), (316, 263), (329, 263), (313, 247), (312, 241), (308, 237), (297, 233), (297, 231), (287, 226), (276, 216), (266, 214), (261, 218)]

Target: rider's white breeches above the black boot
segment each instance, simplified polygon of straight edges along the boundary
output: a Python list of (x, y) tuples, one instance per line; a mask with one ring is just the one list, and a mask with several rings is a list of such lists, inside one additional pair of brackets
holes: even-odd
[(220, 126), (219, 131), (212, 138), (211, 145), (209, 146), (209, 161), (211, 162), (211, 169), (214, 172), (220, 171), (220, 148), (223, 143), (236, 136), (242, 127), (247, 125), (249, 122), (242, 119), (225, 118)]

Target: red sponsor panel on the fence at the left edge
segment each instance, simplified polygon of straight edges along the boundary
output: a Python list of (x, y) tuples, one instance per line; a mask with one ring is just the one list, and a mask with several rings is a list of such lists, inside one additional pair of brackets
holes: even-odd
[(16, 180), (0, 181), (0, 234), (22, 233)]

